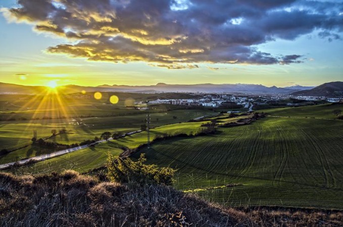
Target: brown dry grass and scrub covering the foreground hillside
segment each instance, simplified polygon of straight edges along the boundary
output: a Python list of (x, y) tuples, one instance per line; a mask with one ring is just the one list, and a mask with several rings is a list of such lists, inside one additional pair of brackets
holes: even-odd
[(341, 212), (222, 208), (166, 186), (75, 171), (0, 173), (0, 226), (341, 226)]

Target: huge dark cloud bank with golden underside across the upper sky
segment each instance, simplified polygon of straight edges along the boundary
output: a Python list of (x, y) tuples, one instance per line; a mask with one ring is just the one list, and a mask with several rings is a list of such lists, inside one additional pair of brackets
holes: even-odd
[(301, 53), (261, 52), (259, 44), (318, 31), (343, 31), (343, 3), (306, 0), (19, 0), (9, 20), (73, 40), (47, 48), (89, 61), (146, 62), (168, 69), (200, 63), (302, 63)]

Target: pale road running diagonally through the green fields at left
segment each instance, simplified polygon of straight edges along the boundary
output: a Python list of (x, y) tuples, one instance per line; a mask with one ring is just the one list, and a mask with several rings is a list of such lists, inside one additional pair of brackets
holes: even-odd
[[(126, 133), (126, 134), (122, 135), (121, 137), (129, 136), (129, 135), (139, 133), (139, 132), (141, 132), (141, 130)], [(71, 152), (74, 152), (77, 150), (85, 149), (87, 147), (93, 146), (93, 145), (98, 144), (98, 143), (103, 143), (103, 142), (106, 142), (109, 140), (113, 140), (113, 138), (110, 138), (108, 140), (100, 140), (100, 141), (97, 141), (95, 143), (86, 144), (86, 145), (82, 145), (82, 146), (78, 146), (78, 147), (73, 147), (73, 148), (69, 148), (66, 150), (56, 151), (56, 152), (53, 152), (50, 154), (43, 154), (43, 155), (28, 158), (28, 159), (20, 160), (20, 161), (14, 161), (14, 162), (2, 164), (2, 165), (0, 165), (0, 169), (9, 168), (9, 167), (14, 166), (14, 165), (25, 165), (25, 164), (28, 164), (30, 162), (43, 161), (45, 159), (50, 159), (50, 158), (57, 157), (57, 156), (60, 156), (63, 154), (67, 154), (67, 153), (71, 153)]]

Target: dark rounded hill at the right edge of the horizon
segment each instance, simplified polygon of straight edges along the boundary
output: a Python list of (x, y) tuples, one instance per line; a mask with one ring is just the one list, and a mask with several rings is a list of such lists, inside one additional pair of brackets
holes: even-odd
[(329, 82), (310, 90), (293, 92), (292, 95), (343, 97), (343, 82)]

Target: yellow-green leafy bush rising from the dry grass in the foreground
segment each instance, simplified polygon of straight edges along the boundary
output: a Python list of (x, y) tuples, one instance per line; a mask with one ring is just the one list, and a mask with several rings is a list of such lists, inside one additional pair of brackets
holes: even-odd
[(109, 154), (107, 169), (108, 178), (119, 183), (135, 182), (140, 185), (145, 184), (163, 184), (171, 185), (175, 169), (169, 167), (158, 167), (157, 165), (146, 165), (144, 154), (141, 154), (138, 161), (132, 161), (129, 158)]

